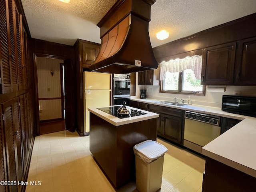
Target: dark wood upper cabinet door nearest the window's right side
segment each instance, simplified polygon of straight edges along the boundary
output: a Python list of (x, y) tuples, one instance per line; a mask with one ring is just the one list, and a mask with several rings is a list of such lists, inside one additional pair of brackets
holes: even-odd
[(203, 49), (202, 85), (231, 85), (234, 77), (236, 42)]

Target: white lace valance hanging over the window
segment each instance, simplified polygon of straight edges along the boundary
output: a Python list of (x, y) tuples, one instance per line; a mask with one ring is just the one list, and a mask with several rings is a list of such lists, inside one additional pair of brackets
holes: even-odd
[(197, 79), (201, 78), (202, 55), (194, 55), (183, 59), (170, 60), (160, 63), (160, 81), (164, 80), (166, 72), (181, 72), (186, 69), (192, 69)]

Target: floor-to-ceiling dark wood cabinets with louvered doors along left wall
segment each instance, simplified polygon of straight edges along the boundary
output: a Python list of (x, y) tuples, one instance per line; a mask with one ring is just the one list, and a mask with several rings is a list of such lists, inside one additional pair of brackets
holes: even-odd
[(21, 1), (0, 0), (0, 180), (1, 192), (25, 191), (34, 142), (33, 63)]

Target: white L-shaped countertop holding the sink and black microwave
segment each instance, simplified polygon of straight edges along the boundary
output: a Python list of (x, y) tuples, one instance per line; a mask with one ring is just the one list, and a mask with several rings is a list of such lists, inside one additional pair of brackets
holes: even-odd
[[(131, 100), (148, 104), (156, 104), (152, 101), (157, 101), (154, 99), (136, 98)], [(242, 120), (204, 146), (202, 154), (256, 177), (256, 118), (224, 112), (221, 108), (194, 104), (186, 106), (156, 105)]]

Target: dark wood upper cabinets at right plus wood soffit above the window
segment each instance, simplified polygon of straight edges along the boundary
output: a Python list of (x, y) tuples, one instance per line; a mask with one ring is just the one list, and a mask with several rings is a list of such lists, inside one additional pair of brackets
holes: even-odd
[(153, 48), (158, 62), (198, 50), (202, 85), (256, 85), (256, 13)]

